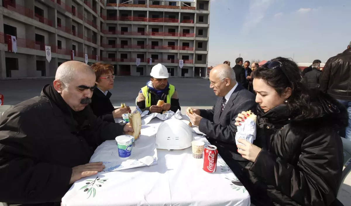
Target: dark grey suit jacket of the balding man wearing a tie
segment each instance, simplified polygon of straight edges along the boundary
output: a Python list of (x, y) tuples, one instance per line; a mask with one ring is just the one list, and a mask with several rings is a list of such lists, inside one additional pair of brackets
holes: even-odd
[(200, 116), (203, 119), (199, 123), (199, 130), (208, 136), (211, 144), (217, 146), (224, 160), (247, 161), (237, 152), (238, 148), (235, 143), (237, 126), (234, 123), (235, 118), (242, 111), (256, 112), (255, 95), (239, 84), (221, 114), (222, 99), (223, 97), (219, 97), (212, 109), (200, 109)]

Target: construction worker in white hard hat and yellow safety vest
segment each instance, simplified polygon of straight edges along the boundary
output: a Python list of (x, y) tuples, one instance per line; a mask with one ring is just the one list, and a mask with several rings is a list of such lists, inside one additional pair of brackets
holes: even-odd
[[(151, 113), (162, 113), (171, 110), (176, 112), (179, 106), (178, 93), (176, 88), (168, 83), (168, 70), (162, 64), (157, 64), (151, 69), (151, 79), (146, 86), (141, 88), (137, 105), (141, 111), (149, 110)], [(162, 106), (157, 102), (163, 100)]]

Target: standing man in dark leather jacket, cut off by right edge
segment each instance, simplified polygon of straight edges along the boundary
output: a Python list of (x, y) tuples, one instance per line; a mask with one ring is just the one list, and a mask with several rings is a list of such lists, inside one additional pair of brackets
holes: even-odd
[(330, 57), (320, 75), (320, 90), (338, 99), (349, 112), (346, 139), (351, 140), (351, 42), (347, 49)]

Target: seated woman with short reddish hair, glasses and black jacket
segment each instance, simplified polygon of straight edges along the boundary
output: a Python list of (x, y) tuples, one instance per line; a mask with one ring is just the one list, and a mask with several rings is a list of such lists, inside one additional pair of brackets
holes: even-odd
[(113, 66), (111, 64), (94, 63), (91, 68), (96, 76), (96, 88), (91, 97), (90, 107), (94, 115), (101, 118), (103, 121), (114, 122), (114, 118), (121, 118), (122, 114), (127, 114), (130, 111), (129, 107), (115, 109), (110, 101), (111, 92), (113, 89), (114, 75)]

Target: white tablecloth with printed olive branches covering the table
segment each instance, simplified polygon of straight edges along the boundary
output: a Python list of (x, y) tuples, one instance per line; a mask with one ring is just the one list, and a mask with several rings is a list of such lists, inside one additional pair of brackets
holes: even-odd
[[(155, 127), (157, 131), (161, 122), (153, 119), (147, 125)], [(143, 131), (141, 134), (144, 134)], [(193, 135), (195, 139), (208, 144), (206, 138), (195, 133)], [(61, 205), (250, 205), (249, 193), (220, 156), (215, 173), (207, 173), (202, 169), (203, 159), (194, 159), (191, 147), (185, 150), (157, 150), (157, 156), (157, 165), (100, 172), (96, 176), (76, 181), (62, 198)], [(88, 185), (90, 183), (94, 185), (91, 187)]]

